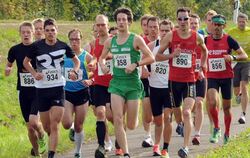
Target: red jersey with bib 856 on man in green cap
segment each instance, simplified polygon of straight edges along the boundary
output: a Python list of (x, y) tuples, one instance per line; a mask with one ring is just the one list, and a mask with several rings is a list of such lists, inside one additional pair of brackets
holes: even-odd
[(228, 55), (231, 49), (227, 42), (228, 35), (223, 34), (222, 39), (214, 40), (212, 36), (206, 38), (208, 49), (207, 78), (233, 78), (231, 62), (226, 62), (223, 55)]

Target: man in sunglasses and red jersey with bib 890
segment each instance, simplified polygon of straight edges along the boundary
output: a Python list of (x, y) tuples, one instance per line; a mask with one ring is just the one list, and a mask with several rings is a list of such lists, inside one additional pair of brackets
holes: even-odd
[[(188, 156), (188, 144), (191, 136), (191, 109), (195, 103), (195, 49), (201, 48), (201, 68), (206, 70), (207, 49), (198, 33), (190, 29), (190, 10), (182, 7), (177, 10), (178, 26), (169, 32), (160, 43), (156, 61), (169, 59), (169, 88), (173, 99), (173, 107), (179, 107), (183, 100), (184, 145), (178, 151), (180, 157)], [(170, 47), (170, 54), (164, 55)], [(203, 71), (199, 71), (202, 76)]]

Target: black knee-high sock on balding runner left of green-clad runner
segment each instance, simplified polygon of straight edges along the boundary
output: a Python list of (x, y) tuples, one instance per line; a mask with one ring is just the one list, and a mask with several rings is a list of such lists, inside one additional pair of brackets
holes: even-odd
[(104, 121), (96, 122), (96, 135), (98, 139), (98, 144), (104, 147), (104, 140), (106, 134), (106, 127)]

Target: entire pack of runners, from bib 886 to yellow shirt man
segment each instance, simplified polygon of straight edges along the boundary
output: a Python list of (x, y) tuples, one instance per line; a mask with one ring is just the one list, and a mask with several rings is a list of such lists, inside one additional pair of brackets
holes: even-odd
[(173, 117), (176, 132), (184, 137), (180, 157), (188, 156), (190, 142), (201, 143), (203, 104), (211, 126), (209, 141), (217, 143), (221, 136), (220, 100), (226, 144), (233, 87), (237, 103), (242, 105), (239, 123), (246, 121), (250, 69), (247, 15), (240, 13), (237, 27), (228, 33), (224, 30), (226, 18), (213, 10), (205, 15), (204, 29), (199, 29), (199, 16), (185, 7), (176, 12), (176, 26), (170, 19), (144, 15), (141, 35), (129, 31), (133, 22), (129, 8), (116, 9), (114, 20), (117, 26), (109, 30), (108, 17), (97, 15), (94, 39), (84, 49), (79, 29), (69, 31), (70, 46), (60, 41), (54, 19), (36, 19), (19, 26), (21, 43), (10, 48), (5, 75), (10, 75), (16, 61), (19, 103), (32, 144), (31, 155), (39, 157), (48, 150), (48, 158), (55, 156), (62, 122), (75, 143), (73, 156), (84, 157), (83, 124), (91, 104), (98, 142), (93, 156), (107, 157), (106, 152), (112, 149), (109, 121), (114, 126), (115, 154), (130, 157), (126, 130), (138, 125), (140, 100), (145, 131), (141, 146), (153, 147), (153, 156), (169, 157)]

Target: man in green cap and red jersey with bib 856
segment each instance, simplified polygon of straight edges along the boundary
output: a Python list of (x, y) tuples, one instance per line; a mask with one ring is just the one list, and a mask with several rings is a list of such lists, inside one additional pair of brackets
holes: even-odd
[[(225, 122), (224, 144), (226, 144), (229, 140), (230, 124), (232, 120), (230, 109), (232, 98), (232, 78), (234, 74), (231, 67), (231, 61), (246, 59), (247, 55), (232, 37), (223, 33), (226, 24), (226, 18), (223, 15), (217, 14), (213, 16), (212, 24), (212, 35), (205, 38), (205, 43), (208, 48), (207, 101), (214, 123), (214, 131), (210, 138), (210, 142), (217, 143), (221, 135), (217, 106), (219, 104), (217, 99), (219, 89), (221, 89)], [(235, 50), (238, 55), (231, 55), (232, 50)]]

